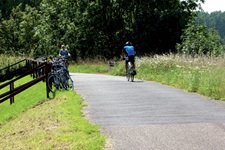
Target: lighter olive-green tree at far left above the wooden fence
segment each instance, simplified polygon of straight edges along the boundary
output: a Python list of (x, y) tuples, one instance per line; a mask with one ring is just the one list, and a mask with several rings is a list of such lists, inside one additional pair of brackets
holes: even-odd
[(34, 29), (40, 16), (35, 8), (26, 6), (24, 12), (22, 5), (12, 10), (9, 20), (3, 20), (0, 24), (0, 49), (1, 53), (14, 55), (29, 55), (37, 47)]

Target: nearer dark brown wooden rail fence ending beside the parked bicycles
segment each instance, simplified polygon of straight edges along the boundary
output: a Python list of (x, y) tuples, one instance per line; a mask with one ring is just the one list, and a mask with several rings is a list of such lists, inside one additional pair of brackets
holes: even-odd
[[(0, 95), (0, 103), (10, 99), (10, 104), (13, 104), (15, 95), (21, 93), (22, 91), (28, 89), (29, 87), (35, 85), (40, 81), (47, 81), (48, 73), (51, 70), (50, 63), (27, 59), (26, 67), (28, 68), (28, 71), (26, 71), (25, 73), (21, 74), (20, 76), (16, 77), (13, 80), (0, 85), (0, 89), (6, 88), (7, 86), (9, 87), (9, 90), (7, 92), (2, 93)], [(27, 75), (32, 75), (33, 80), (15, 88), (14, 83)], [(47, 98), (49, 98), (49, 89), (47, 84), (48, 82), (46, 82), (46, 95)]]

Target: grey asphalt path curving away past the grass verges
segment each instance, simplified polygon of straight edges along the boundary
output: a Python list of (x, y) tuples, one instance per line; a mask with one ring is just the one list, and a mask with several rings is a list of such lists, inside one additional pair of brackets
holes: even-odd
[(225, 102), (156, 82), (72, 74), (105, 150), (225, 150)]

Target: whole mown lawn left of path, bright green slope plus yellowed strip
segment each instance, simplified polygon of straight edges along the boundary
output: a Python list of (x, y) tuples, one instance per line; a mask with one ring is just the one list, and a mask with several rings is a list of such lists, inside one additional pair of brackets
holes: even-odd
[[(25, 77), (16, 86), (31, 80)], [(1, 93), (6, 89), (2, 89)], [(4, 149), (103, 149), (105, 136), (84, 118), (82, 98), (75, 91), (58, 91), (46, 99), (41, 82), (0, 104), (0, 147)]]

